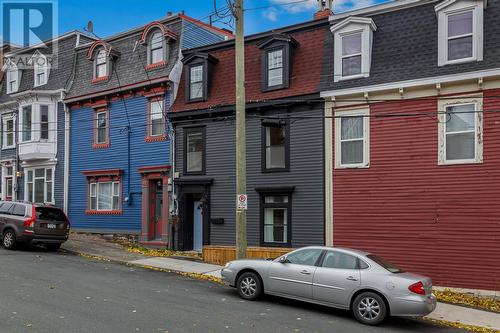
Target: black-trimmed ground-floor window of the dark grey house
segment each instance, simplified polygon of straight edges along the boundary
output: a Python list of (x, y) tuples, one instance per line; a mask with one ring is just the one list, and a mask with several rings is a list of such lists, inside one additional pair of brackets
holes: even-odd
[(288, 195), (263, 196), (263, 243), (290, 244), (290, 200)]

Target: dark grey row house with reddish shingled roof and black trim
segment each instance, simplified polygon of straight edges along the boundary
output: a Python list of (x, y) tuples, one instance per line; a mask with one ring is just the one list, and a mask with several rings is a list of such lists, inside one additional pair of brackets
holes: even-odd
[[(247, 235), (250, 257), (324, 244), (324, 102), (329, 9), (245, 38)], [(235, 256), (235, 45), (184, 52), (173, 127), (174, 248)]]

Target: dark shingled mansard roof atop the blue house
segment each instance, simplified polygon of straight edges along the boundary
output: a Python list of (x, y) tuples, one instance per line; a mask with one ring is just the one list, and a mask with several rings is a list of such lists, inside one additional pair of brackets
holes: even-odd
[(233, 36), (230, 32), (183, 14), (172, 15), (154, 23), (162, 25), (165, 36), (172, 39), (165, 66), (146, 69), (147, 45), (143, 43), (143, 34), (150, 26), (148, 24), (99, 41), (113, 50), (116, 56), (109, 79), (92, 83), (94, 67), (88, 53), (93, 43), (89, 43), (77, 51), (75, 80), (66, 96), (66, 101), (71, 103), (125, 91), (132, 87), (145, 86), (153, 82), (169, 81), (169, 74), (177, 63), (180, 49), (223, 41)]

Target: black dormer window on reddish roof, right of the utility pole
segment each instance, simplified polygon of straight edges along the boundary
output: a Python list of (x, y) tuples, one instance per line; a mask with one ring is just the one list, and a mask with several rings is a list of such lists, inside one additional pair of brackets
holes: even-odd
[(258, 45), (262, 49), (262, 91), (288, 88), (293, 50), (299, 44), (290, 36), (276, 34)]

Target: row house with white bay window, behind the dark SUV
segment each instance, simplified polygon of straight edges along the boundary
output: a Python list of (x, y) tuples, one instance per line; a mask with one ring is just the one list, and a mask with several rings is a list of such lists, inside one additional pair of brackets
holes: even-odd
[(74, 74), (75, 49), (92, 40), (75, 31), (4, 54), (0, 83), (2, 200), (65, 205), (67, 118), (63, 98)]

